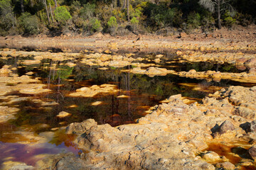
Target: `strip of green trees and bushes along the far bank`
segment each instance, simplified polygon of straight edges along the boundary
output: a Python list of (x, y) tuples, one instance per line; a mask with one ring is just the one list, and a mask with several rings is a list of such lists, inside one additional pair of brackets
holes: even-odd
[(255, 24), (255, 0), (1, 0), (0, 35), (208, 33)]

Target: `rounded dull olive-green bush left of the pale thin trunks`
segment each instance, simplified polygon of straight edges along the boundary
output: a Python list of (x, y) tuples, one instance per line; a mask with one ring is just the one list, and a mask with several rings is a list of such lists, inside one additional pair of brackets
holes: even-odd
[(38, 18), (36, 16), (32, 16), (31, 13), (22, 13), (22, 15), (18, 18), (18, 21), (23, 29), (23, 33), (35, 35), (40, 32), (38, 28)]

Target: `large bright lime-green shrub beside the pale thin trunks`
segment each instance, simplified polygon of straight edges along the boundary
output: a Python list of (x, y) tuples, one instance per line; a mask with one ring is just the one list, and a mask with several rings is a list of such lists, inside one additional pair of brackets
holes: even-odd
[(54, 11), (55, 19), (58, 23), (65, 25), (68, 19), (72, 18), (65, 6), (58, 6)]

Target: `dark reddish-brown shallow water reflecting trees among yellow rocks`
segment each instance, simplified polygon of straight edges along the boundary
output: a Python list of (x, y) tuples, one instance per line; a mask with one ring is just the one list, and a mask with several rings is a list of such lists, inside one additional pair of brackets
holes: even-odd
[[(50, 49), (51, 52), (62, 50)], [(121, 54), (122, 52), (120, 52)], [(154, 63), (157, 53), (140, 52), (134, 58), (144, 57), (143, 63)], [(166, 59), (154, 63), (159, 67), (176, 71), (215, 70), (226, 72), (240, 72), (232, 64), (190, 63), (178, 62), (174, 54), (165, 54)], [(17, 67), (13, 72), (22, 76), (33, 72), (31, 77), (39, 78), (46, 84), (50, 92), (43, 94), (21, 94), (12, 92), (0, 98), (0, 106), (19, 108), (15, 119), (0, 124), (0, 164), (6, 160), (25, 162), (34, 165), (41, 154), (57, 154), (73, 152), (76, 155), (80, 150), (73, 144), (73, 136), (65, 135), (64, 130), (55, 132), (55, 129), (65, 127), (73, 122), (82, 122), (93, 118), (98, 124), (109, 123), (112, 126), (127, 123), (136, 123), (137, 118), (146, 115), (146, 111), (171, 95), (181, 94), (187, 98), (200, 101), (201, 98), (230, 85), (253, 86), (255, 84), (240, 84), (239, 82), (222, 80), (206, 81), (181, 78), (168, 74), (164, 77), (148, 77), (142, 74), (122, 72), (131, 66), (123, 68), (90, 67), (80, 63), (80, 58), (73, 58), (63, 62), (50, 59), (42, 60), (40, 64), (24, 65), (23, 60), (33, 60), (33, 56), (11, 57), (0, 59), (0, 67), (5, 64)], [(150, 61), (148, 61), (150, 59)], [(67, 62), (76, 62), (75, 67), (68, 67)], [(72, 97), (70, 93), (84, 86), (114, 84), (117, 93), (97, 94), (93, 97)], [(10, 86), (12, 84), (9, 84)], [(14, 97), (16, 96), (16, 97)], [(126, 96), (119, 98), (118, 96)], [(12, 101), (14, 98), (18, 98)], [(100, 105), (93, 103), (101, 101)], [(56, 104), (57, 103), (57, 104)], [(61, 111), (71, 113), (67, 118), (58, 118)], [(24, 137), (26, 133), (35, 137)], [(49, 132), (49, 133), (48, 133)], [(39, 137), (39, 142), (37, 137)], [(43, 137), (43, 140), (41, 138)], [(35, 141), (33, 141), (33, 139)], [(42, 142), (43, 141), (43, 142)], [(53, 149), (54, 148), (54, 149)], [(26, 153), (26, 159), (23, 157)]]

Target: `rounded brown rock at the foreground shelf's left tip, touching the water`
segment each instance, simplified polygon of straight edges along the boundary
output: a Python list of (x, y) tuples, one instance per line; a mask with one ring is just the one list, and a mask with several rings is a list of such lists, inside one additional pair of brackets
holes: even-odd
[(90, 128), (96, 126), (97, 123), (93, 119), (87, 119), (84, 120), (82, 123), (71, 123), (66, 128), (67, 134), (82, 134), (86, 130), (89, 130)]

